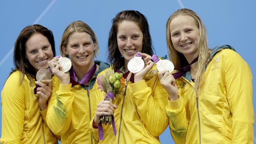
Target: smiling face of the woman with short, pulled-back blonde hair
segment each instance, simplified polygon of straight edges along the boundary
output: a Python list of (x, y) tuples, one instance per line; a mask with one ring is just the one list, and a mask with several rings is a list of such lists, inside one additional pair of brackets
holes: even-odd
[(96, 44), (91, 35), (85, 32), (74, 32), (69, 36), (67, 46), (62, 46), (65, 54), (69, 55), (74, 68), (91, 68), (94, 65), (93, 57)]

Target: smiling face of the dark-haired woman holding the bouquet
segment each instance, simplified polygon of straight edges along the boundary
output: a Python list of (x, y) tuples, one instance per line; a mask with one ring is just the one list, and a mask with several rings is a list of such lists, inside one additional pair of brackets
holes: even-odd
[(126, 66), (137, 52), (141, 52), (142, 42), (143, 33), (135, 22), (124, 20), (118, 25), (117, 44)]

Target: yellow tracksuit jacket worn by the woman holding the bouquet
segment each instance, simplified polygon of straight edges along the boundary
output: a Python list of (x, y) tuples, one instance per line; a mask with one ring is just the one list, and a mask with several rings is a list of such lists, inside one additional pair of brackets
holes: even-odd
[[(124, 69), (121, 71), (124, 72)], [(165, 112), (167, 97), (156, 66), (146, 75), (145, 80), (137, 83), (129, 81), (122, 96), (113, 101), (118, 107), (114, 113), (117, 135), (114, 136), (112, 125), (103, 125), (104, 139), (99, 144), (160, 144), (159, 135), (168, 126)], [(94, 129), (92, 124), (93, 120), (90, 129), (93, 137), (98, 140), (98, 129)]]

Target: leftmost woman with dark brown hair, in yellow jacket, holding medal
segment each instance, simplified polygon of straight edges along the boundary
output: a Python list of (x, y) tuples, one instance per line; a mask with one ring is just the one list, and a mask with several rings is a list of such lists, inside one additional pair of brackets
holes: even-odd
[[(52, 93), (51, 80), (35, 81), (38, 70), (48, 68), (55, 55), (52, 31), (41, 25), (25, 27), (14, 48), (15, 69), (2, 90), (1, 143), (58, 143), (45, 117)], [(34, 94), (35, 84), (39, 85)]]

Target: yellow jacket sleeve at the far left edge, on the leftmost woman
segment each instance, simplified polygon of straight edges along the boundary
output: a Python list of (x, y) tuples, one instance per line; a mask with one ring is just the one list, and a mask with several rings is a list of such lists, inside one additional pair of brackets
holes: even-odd
[(25, 113), (24, 83), (12, 75), (2, 90), (2, 144), (19, 144), (22, 137)]

